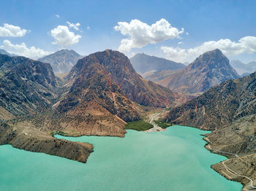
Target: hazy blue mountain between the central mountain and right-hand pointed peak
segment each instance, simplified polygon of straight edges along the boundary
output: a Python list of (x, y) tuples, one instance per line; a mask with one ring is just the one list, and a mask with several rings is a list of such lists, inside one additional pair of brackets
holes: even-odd
[(130, 61), (135, 71), (140, 74), (153, 70), (173, 70), (183, 69), (185, 67), (182, 63), (176, 63), (165, 58), (158, 58), (144, 53), (136, 54), (134, 57), (130, 58)]

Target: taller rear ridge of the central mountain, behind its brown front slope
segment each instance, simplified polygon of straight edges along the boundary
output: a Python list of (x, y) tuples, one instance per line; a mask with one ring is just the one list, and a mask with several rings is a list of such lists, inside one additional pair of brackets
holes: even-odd
[(96, 52), (81, 59), (70, 71), (69, 81), (83, 74), (87, 65), (99, 63), (105, 74), (118, 85), (131, 101), (143, 106), (166, 107), (174, 106), (178, 101), (185, 101), (186, 96), (174, 93), (166, 87), (143, 79), (129, 62), (127, 56), (118, 51), (105, 50)]

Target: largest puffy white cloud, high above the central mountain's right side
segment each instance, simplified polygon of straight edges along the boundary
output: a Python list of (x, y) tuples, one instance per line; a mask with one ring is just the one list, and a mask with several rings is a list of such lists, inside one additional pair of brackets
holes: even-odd
[(120, 31), (122, 35), (129, 36), (122, 39), (118, 50), (121, 52), (129, 52), (132, 48), (144, 47), (147, 44), (156, 44), (167, 39), (180, 38), (180, 34), (184, 33), (184, 28), (178, 31), (168, 23), (167, 20), (161, 19), (156, 23), (148, 26), (140, 20), (131, 20), (130, 23), (118, 22), (118, 26), (114, 26), (116, 31)]

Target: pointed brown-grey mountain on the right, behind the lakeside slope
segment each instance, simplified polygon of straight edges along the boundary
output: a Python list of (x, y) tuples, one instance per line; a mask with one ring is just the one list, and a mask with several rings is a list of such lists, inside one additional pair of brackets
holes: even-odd
[(239, 75), (220, 50), (205, 52), (184, 69), (160, 80), (159, 85), (169, 87), (179, 93), (202, 93), (227, 79), (236, 79)]

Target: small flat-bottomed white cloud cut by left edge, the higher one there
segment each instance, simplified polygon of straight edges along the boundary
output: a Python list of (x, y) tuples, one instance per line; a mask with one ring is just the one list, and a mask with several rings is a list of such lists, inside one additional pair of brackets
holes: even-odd
[(21, 29), (19, 26), (12, 26), (7, 23), (4, 23), (4, 26), (0, 26), (1, 37), (21, 37), (24, 36), (27, 32), (28, 31), (26, 29)]

